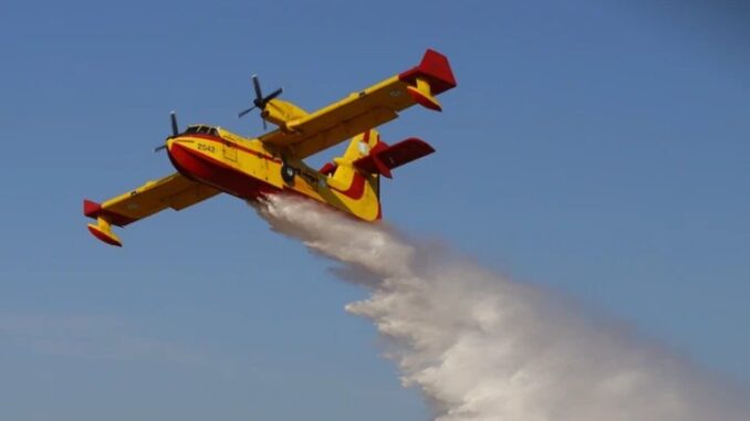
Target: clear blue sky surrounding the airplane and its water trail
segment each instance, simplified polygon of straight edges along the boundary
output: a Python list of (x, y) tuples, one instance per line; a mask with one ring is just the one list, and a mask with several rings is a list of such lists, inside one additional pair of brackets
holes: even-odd
[[(346, 314), (364, 291), (222, 197), (94, 240), (173, 171), (168, 113), (258, 135), (248, 76), (308, 109), (451, 61), (437, 154), (387, 220), (750, 385), (750, 8), (740, 1), (0, 3), (0, 419), (425, 420)], [(322, 162), (324, 158), (314, 160)], [(456, 280), (460, 282), (460, 280)]]

